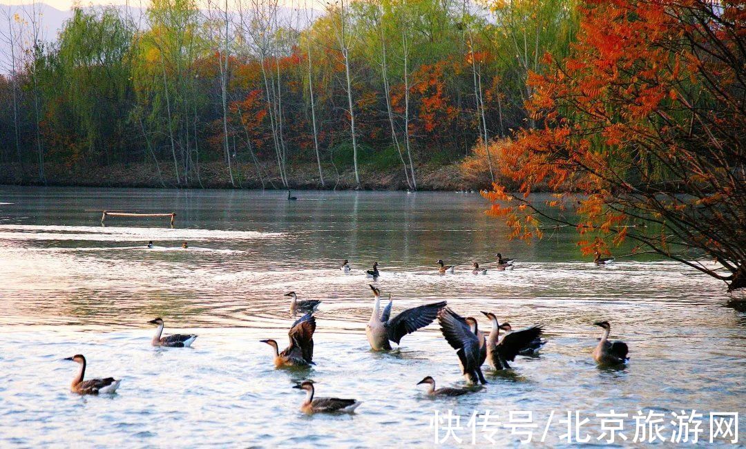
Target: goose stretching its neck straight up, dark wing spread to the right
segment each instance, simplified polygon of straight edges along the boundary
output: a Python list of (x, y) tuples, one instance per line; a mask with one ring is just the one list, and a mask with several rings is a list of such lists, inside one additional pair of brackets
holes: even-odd
[(389, 304), (383, 308), (383, 313), (379, 315), (380, 291), (372, 285), (370, 288), (373, 290), (375, 304), (371, 319), (366, 326), (366, 336), (368, 336), (368, 342), (373, 351), (390, 351), (392, 348), (389, 342), (395, 342), (398, 345), (401, 342), (401, 337), (432, 323), (438, 316), (438, 311), (446, 306), (445, 301), (425, 304), (424, 306), (404, 310), (404, 312), (389, 319), (393, 304), (391, 297), (389, 296)]

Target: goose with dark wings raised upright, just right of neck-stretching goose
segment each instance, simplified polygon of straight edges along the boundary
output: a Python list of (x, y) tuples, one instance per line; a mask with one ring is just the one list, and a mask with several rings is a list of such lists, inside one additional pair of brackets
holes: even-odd
[(484, 342), (479, 341), (479, 337), (472, 332), (466, 319), (445, 307), (438, 314), (438, 321), (445, 341), (456, 350), (459, 365), (466, 381), (468, 383), (487, 383), (481, 368)]

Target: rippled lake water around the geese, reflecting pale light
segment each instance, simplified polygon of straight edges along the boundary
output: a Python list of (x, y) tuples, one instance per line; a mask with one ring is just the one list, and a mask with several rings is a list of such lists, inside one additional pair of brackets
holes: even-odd
[[(472, 430), (480, 445), (492, 431), (499, 445), (518, 445), (524, 436), (503, 427), (518, 411), (533, 413), (532, 445), (568, 445), (559, 421), (568, 410), (589, 418), (582, 432), (592, 442), (595, 414), (610, 409), (629, 415), (627, 444), (639, 410), (665, 415), (667, 439), (671, 412), (703, 412), (705, 441), (709, 412), (740, 412), (743, 435), (746, 313), (729, 305), (742, 297), (723, 283), (644, 257), (597, 267), (580, 257), (573, 230), (510, 241), (476, 194), (295, 195), (0, 187), (0, 447), (427, 447), (435, 412), (449, 409), (461, 416), (454, 434), (465, 446)], [(178, 216), (175, 229), (168, 219), (102, 227), (104, 209)], [(472, 261), (489, 268), (496, 252), (518, 259), (516, 268), (471, 274)], [(343, 259), (351, 274), (339, 271)], [(458, 264), (456, 274), (436, 274), (438, 259)], [(540, 357), (518, 357), (513, 371), (488, 374), (480, 391), (428, 398), (416, 386), (426, 375), (463, 386), (457, 357), (436, 324), (399, 350), (369, 351), (364, 270), (374, 261), (394, 314), (447, 300), (483, 329), (481, 310), (513, 327), (543, 324), (548, 344)], [(259, 342), (286, 344), (290, 290), (323, 301), (310, 371), (275, 370)], [(157, 316), (166, 333), (198, 333), (193, 348), (153, 348), (146, 321)], [(592, 323), (604, 319), (630, 345), (627, 368), (592, 362)], [(61, 359), (78, 353), (87, 377), (123, 379), (116, 395), (69, 392), (77, 365)], [(354, 415), (302, 415), (304, 395), (291, 387), (304, 378), (317, 395), (363, 404)], [(471, 429), (471, 414), (486, 410), (501, 424)], [(453, 437), (443, 444), (459, 445)]]

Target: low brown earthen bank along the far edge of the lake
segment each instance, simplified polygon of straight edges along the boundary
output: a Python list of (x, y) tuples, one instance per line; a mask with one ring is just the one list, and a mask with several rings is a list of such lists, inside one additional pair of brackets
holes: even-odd
[[(335, 169), (327, 165), (324, 169), (324, 184), (315, 163), (292, 163), (288, 165), (288, 183), (292, 189), (354, 189), (354, 171)], [(177, 180), (172, 166), (161, 163), (130, 163), (110, 166), (46, 166), (48, 186), (88, 187), (185, 187), (205, 189), (280, 189), (283, 183), (276, 164), (262, 163), (257, 169), (253, 163), (233, 166), (233, 183), (224, 163), (201, 163), (198, 174)], [(183, 174), (180, 174), (183, 176)], [(486, 188), (489, 184), (475, 181), (463, 175), (460, 163), (447, 165), (422, 164), (416, 167), (417, 189), (430, 191), (463, 191)], [(39, 185), (36, 166), (21, 167), (18, 164), (0, 165), (0, 183), (10, 185)], [(360, 183), (367, 190), (406, 190), (407, 180), (401, 166), (378, 169), (363, 166)]]

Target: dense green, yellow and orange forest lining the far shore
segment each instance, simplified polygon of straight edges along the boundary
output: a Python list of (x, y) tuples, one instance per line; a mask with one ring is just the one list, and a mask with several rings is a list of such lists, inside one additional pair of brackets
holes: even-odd
[(527, 78), (578, 23), (573, 0), (310, 6), (78, 7), (50, 41), (19, 9), (1, 34), (5, 181), (428, 188), (535, 125)]

